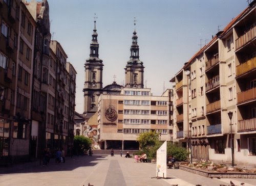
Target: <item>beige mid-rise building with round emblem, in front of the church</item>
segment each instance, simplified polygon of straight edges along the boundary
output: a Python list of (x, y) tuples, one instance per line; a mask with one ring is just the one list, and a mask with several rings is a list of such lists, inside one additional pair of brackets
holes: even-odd
[(154, 130), (160, 140), (173, 138), (172, 90), (152, 96), (151, 89), (123, 88), (120, 94), (101, 94), (98, 100), (98, 142), (101, 149), (139, 149), (142, 132)]

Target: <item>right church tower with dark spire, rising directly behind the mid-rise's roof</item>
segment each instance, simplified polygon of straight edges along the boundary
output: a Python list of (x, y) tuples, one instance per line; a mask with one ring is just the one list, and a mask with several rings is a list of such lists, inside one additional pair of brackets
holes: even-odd
[[(135, 23), (134, 23), (135, 25)], [(127, 61), (125, 69), (125, 87), (126, 88), (144, 88), (143, 84), (143, 62), (139, 60), (138, 36), (134, 29), (133, 43), (131, 45), (130, 60)]]

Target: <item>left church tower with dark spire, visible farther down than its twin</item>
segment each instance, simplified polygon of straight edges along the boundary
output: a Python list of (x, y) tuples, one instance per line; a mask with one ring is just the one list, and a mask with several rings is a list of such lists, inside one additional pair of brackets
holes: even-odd
[(102, 60), (99, 59), (98, 34), (96, 31), (96, 20), (94, 20), (92, 42), (90, 44), (90, 58), (84, 64), (86, 76), (83, 89), (83, 114), (95, 113), (97, 111), (98, 97), (102, 93), (102, 70), (104, 65), (102, 64)]

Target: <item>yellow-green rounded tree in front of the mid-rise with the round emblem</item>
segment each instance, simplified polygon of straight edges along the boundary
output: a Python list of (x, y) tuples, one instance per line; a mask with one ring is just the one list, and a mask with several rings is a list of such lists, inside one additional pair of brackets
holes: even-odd
[(139, 137), (136, 139), (140, 144), (141, 149), (149, 150), (152, 146), (155, 146), (159, 140), (159, 134), (156, 131), (149, 131), (139, 134)]

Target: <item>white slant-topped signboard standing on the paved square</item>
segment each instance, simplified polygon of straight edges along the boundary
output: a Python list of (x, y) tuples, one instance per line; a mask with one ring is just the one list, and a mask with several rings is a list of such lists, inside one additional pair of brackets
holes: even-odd
[(157, 177), (166, 178), (166, 156), (167, 156), (167, 142), (157, 150)]

